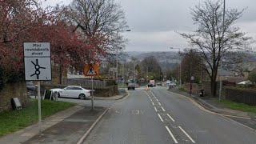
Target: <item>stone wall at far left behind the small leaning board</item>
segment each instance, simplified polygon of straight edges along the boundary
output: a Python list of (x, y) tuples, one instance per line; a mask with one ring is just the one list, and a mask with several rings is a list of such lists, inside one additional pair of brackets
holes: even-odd
[(27, 103), (26, 82), (7, 83), (0, 90), (0, 112), (11, 110), (11, 98), (17, 97), (22, 103), (22, 107)]

